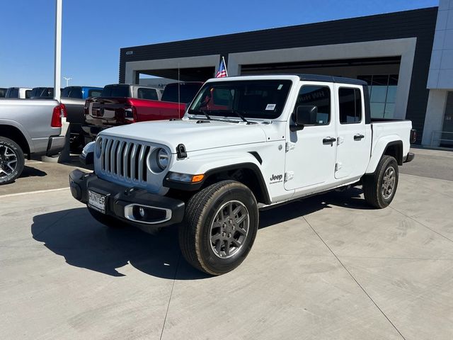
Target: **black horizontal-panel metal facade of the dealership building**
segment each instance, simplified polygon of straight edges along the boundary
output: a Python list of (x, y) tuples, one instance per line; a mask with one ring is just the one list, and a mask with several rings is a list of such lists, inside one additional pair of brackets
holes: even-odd
[[(437, 7), (386, 13), (308, 25), (273, 28), (210, 38), (127, 47), (120, 50), (120, 82), (125, 63), (198, 55), (223, 55), (290, 47), (332, 45), (348, 42), (417, 38), (406, 118), (413, 121), (421, 141), (428, 103), (428, 69), (434, 39)], [(133, 50), (132, 55), (126, 52)]]

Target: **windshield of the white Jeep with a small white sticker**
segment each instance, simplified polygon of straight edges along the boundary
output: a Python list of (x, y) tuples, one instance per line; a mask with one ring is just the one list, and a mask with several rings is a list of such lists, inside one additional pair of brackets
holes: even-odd
[(282, 114), (290, 80), (219, 81), (205, 84), (188, 113), (275, 119)]

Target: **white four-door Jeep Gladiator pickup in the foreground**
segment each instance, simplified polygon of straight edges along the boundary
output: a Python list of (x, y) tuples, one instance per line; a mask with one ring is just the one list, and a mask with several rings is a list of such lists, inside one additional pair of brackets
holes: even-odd
[(260, 209), (360, 184), (367, 203), (389, 205), (413, 140), (411, 121), (371, 119), (364, 81), (210, 79), (183, 119), (100, 132), (94, 172), (74, 170), (71, 193), (110, 227), (179, 224), (185, 259), (219, 275), (251, 250)]

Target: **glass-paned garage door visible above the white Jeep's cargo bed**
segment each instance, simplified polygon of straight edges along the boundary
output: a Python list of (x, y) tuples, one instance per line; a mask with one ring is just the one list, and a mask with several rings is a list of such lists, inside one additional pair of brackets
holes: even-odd
[(372, 118), (394, 118), (398, 74), (358, 76), (368, 84)]

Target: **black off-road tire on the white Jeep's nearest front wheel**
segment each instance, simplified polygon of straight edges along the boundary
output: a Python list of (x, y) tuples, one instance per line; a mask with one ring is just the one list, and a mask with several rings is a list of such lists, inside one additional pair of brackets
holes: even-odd
[[(241, 246), (237, 246), (236, 252), (231, 257), (221, 258), (219, 256), (222, 255), (216, 251), (217, 246), (212, 246), (212, 227), (214, 223), (215, 225), (219, 223), (217, 220), (220, 216), (219, 211), (228, 209), (222, 207), (229, 207), (228, 205), (233, 207), (234, 204), (248, 214), (248, 232), (243, 236)], [(243, 212), (241, 212), (242, 216), (246, 215)], [(223, 210), (222, 216), (224, 216)], [(188, 263), (200, 271), (210, 275), (228, 273), (246, 259), (255, 241), (258, 219), (256, 198), (247, 186), (237, 181), (214, 183), (192, 196), (186, 205), (185, 223), (179, 227), (179, 244), (182, 254)], [(236, 221), (239, 220), (234, 220), (233, 224), (236, 225)], [(236, 228), (239, 229), (239, 227)], [(238, 234), (238, 229), (233, 233)], [(239, 235), (239, 237), (242, 236)], [(228, 241), (222, 242), (227, 243)]]

